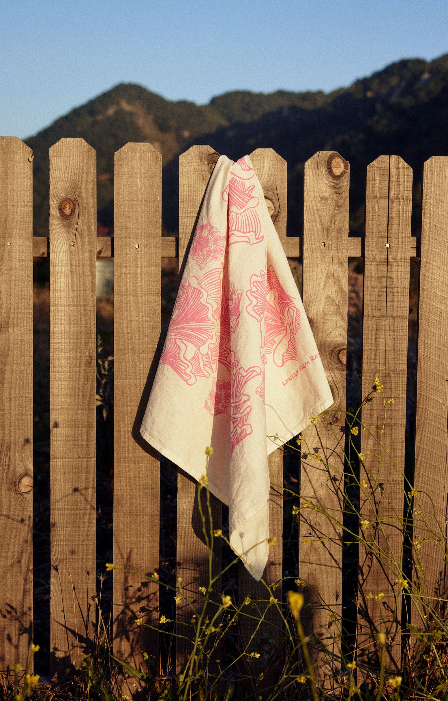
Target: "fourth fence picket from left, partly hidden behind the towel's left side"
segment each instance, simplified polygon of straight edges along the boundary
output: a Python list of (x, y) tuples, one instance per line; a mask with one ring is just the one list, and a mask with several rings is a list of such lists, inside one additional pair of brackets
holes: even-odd
[[(192, 146), (179, 156), (179, 274), (183, 271), (189, 244), (196, 228), (198, 212), (207, 188), (210, 173), (215, 167), (219, 154), (210, 146)], [(205, 446), (204, 446), (205, 451)], [(205, 454), (204, 454), (205, 466)], [(213, 527), (222, 527), (222, 504), (210, 495)], [(215, 552), (212, 576), (221, 571), (221, 540), (215, 538)], [(194, 601), (201, 601), (201, 585), (208, 583), (208, 550), (204, 542), (202, 522), (196, 503), (196, 482), (185, 472), (177, 471), (177, 576), (182, 577), (184, 591)], [(221, 581), (214, 587), (220, 601)], [(191, 620), (189, 605), (177, 604), (177, 632), (184, 632), (183, 624)], [(181, 672), (190, 654), (189, 641), (176, 639), (176, 669)]]

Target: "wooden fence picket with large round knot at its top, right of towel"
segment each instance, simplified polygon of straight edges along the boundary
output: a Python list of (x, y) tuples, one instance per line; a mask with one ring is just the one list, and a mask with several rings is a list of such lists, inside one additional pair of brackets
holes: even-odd
[[(334, 404), (326, 414), (328, 424), (320, 418), (302, 432), (299, 578), (306, 604), (311, 606), (304, 625), (312, 625), (330, 647), (341, 621), (348, 189), (349, 165), (336, 152), (318, 151), (306, 162), (303, 300)], [(317, 510), (303, 509), (305, 500)], [(329, 630), (330, 612), (336, 619)], [(339, 673), (336, 669), (327, 672)]]

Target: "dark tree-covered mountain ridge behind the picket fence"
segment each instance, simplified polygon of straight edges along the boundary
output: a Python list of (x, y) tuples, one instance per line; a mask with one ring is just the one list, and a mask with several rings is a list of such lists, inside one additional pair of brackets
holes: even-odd
[(413, 228), (418, 230), (421, 167), (448, 155), (448, 54), (407, 59), (332, 93), (265, 95), (238, 90), (208, 104), (172, 102), (121, 83), (25, 139), (34, 151), (34, 233), (48, 233), (48, 149), (62, 137), (83, 137), (97, 151), (98, 222), (113, 229), (114, 151), (151, 142), (163, 158), (163, 226), (177, 230), (178, 156), (210, 144), (229, 158), (271, 147), (287, 161), (288, 232), (301, 233), (304, 162), (336, 150), (351, 163), (351, 233), (362, 233), (365, 168), (398, 154), (414, 169)]

